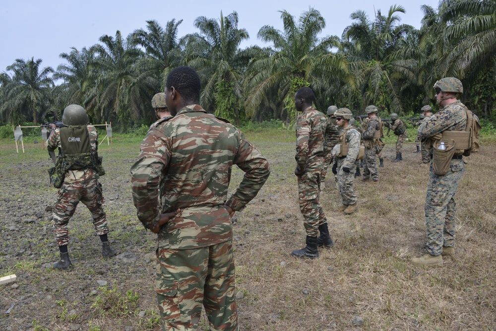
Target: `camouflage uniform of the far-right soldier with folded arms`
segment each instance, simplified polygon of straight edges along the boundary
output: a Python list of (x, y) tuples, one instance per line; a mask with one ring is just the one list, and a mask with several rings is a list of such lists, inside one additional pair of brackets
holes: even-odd
[[(443, 131), (465, 130), (467, 113), (465, 106), (456, 101), (447, 105), (431, 118), (425, 120), (418, 129), (421, 138), (429, 138)], [(456, 226), (455, 193), (465, 172), (460, 158), (453, 158), (445, 175), (434, 174), (431, 163), (424, 206), (427, 227), (427, 252), (433, 256), (442, 253), (442, 247), (454, 247)]]

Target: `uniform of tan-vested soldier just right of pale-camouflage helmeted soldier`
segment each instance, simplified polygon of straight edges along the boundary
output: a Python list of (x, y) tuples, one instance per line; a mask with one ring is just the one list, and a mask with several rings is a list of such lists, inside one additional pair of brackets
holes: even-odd
[(365, 144), (364, 155), (364, 179), (372, 178), (372, 181), (379, 180), (379, 170), (377, 168), (377, 155), (379, 155), (384, 143), (379, 139), (374, 139), (376, 131), (381, 131), (382, 123), (380, 118), (373, 117), (364, 121), (362, 127), (362, 138)]

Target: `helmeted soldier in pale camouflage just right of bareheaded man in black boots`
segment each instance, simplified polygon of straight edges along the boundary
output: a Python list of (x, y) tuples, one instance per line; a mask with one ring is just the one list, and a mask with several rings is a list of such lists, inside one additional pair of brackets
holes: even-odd
[[(360, 164), (358, 153), (360, 151), (361, 135), (357, 129), (350, 125), (353, 118), (351, 110), (340, 108), (336, 111), (336, 120), (340, 128), (343, 129), (339, 136), (339, 141), (334, 146), (332, 173), (337, 174), (339, 193), (341, 194), (343, 205), (337, 211), (344, 211), (345, 214), (352, 214), (357, 209), (357, 196), (353, 191), (355, 171)], [(343, 147), (348, 147), (346, 155), (342, 155)]]

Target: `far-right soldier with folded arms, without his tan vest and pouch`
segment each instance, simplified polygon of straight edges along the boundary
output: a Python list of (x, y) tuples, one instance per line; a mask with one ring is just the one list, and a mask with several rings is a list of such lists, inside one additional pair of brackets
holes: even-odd
[[(463, 93), (460, 80), (447, 77), (434, 84), (437, 104), (443, 107), (424, 121), (418, 129), (422, 138), (442, 139), (444, 131), (464, 131), (467, 126), (467, 107), (458, 100)], [(454, 259), (456, 203), (455, 193), (465, 165), (462, 155), (455, 152), (449, 169), (444, 175), (436, 175), (431, 163), (425, 203), (428, 242), (427, 254), (412, 259), (414, 265), (442, 265), (442, 256)]]

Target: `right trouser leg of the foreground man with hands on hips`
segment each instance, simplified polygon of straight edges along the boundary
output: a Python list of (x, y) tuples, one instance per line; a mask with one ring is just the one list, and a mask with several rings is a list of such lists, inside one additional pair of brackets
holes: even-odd
[(210, 246), (203, 306), (211, 331), (238, 330), (232, 241)]

